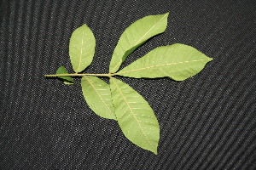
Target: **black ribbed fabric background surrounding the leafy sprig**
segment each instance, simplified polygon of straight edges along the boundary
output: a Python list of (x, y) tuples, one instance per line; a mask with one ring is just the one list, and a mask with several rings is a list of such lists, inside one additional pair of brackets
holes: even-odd
[[(256, 1), (5, 0), (0, 3), (0, 169), (255, 169)], [(214, 60), (183, 82), (120, 79), (152, 106), (159, 154), (137, 147), (117, 122), (84, 102), (79, 85), (44, 74), (68, 71), (69, 37), (86, 23), (96, 54), (86, 72), (108, 73), (119, 36), (149, 14), (170, 12), (158, 46), (183, 43)]]

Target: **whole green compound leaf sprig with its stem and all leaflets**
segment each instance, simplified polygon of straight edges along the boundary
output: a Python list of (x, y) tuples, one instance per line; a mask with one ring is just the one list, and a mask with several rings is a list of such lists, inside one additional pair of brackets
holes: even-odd
[[(60, 77), (65, 84), (73, 84), (73, 76), (82, 77), (81, 87), (90, 109), (98, 116), (116, 120), (127, 139), (154, 154), (157, 154), (160, 139), (160, 127), (154, 111), (142, 95), (115, 77), (169, 77), (183, 81), (195, 76), (212, 60), (193, 47), (176, 43), (154, 48), (119, 71), (129, 54), (150, 37), (166, 30), (167, 17), (168, 13), (148, 15), (127, 27), (113, 51), (108, 74), (81, 73), (92, 62), (96, 48), (95, 37), (84, 24), (73, 31), (69, 43), (75, 73), (68, 74), (61, 66), (55, 75), (45, 75)], [(99, 77), (109, 77), (109, 84)]]

